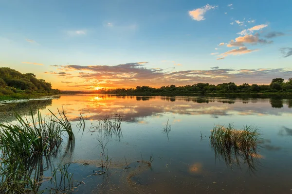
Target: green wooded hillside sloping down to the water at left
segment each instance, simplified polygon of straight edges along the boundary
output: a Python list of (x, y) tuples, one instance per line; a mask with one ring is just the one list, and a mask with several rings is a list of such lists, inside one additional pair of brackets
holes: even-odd
[(58, 89), (33, 73), (22, 74), (8, 67), (0, 67), (0, 100), (60, 94)]

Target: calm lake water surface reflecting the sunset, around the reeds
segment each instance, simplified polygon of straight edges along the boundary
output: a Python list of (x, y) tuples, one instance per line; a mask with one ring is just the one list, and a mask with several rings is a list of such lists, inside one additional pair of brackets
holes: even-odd
[[(281, 98), (225, 97), (118, 97), (64, 95), (55, 99), (0, 104), (0, 121), (14, 122), (14, 112), (25, 116), (32, 108), (43, 115), (64, 107), (72, 121), (75, 146), (53, 163), (70, 165), (74, 181), (83, 181), (76, 193), (198, 193), (286, 194), (292, 192), (292, 100)], [(79, 130), (78, 117), (85, 118)], [(107, 115), (123, 115), (121, 133), (93, 131)], [(164, 132), (166, 122), (171, 130)], [(262, 133), (253, 168), (243, 160), (226, 163), (215, 156), (209, 143), (214, 125), (233, 123), (236, 129), (255, 126)], [(202, 137), (201, 137), (202, 134)], [(98, 170), (100, 146), (107, 141), (112, 164)], [(66, 141), (65, 141), (66, 142)], [(65, 150), (65, 151), (64, 151)], [(67, 153), (64, 155), (64, 153)], [(151, 166), (141, 161), (149, 160)], [(127, 159), (129, 169), (126, 167)], [(81, 164), (89, 165), (81, 165)], [(51, 171), (44, 174), (50, 176)], [(40, 189), (46, 188), (43, 182)]]

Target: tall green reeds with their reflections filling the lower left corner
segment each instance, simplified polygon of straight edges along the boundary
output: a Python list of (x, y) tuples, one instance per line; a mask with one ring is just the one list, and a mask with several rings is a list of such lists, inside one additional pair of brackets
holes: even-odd
[(16, 114), (17, 124), (0, 123), (0, 193), (37, 193), (44, 181), (43, 171), (48, 169), (50, 156), (58, 153), (65, 131), (73, 142), (64, 110), (61, 118), (55, 114), (42, 118), (39, 111), (36, 117), (32, 111), (30, 114), (30, 118)]

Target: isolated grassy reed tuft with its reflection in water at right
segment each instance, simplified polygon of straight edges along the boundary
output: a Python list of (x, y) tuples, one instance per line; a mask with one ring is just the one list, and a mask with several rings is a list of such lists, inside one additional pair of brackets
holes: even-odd
[(255, 171), (260, 158), (259, 140), (257, 128), (245, 126), (237, 130), (229, 124), (226, 127), (215, 126), (211, 130), (210, 146), (215, 151), (215, 157), (223, 159), (228, 166), (235, 164), (240, 167), (240, 163), (246, 163), (251, 171)]

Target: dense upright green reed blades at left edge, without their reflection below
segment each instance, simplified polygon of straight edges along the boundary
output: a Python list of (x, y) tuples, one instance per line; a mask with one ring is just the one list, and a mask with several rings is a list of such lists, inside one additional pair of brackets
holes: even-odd
[(31, 111), (31, 118), (24, 119), (16, 114), (17, 124), (0, 124), (0, 149), (11, 160), (14, 156), (30, 157), (49, 153), (62, 142), (61, 125), (52, 118), (37, 118)]

